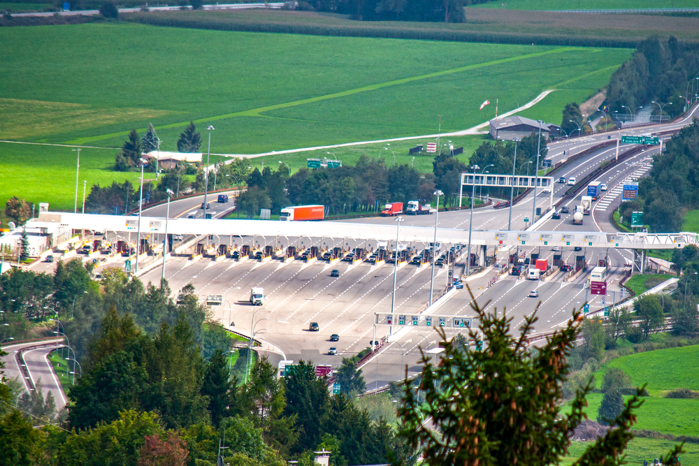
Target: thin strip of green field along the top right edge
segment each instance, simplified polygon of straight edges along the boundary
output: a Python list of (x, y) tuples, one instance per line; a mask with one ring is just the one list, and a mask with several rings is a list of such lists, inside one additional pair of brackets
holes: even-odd
[[(503, 3), (505, 6), (503, 6)], [(623, 10), (627, 8), (699, 8), (697, 0), (505, 0), (479, 3), (471, 8), (507, 10)]]

